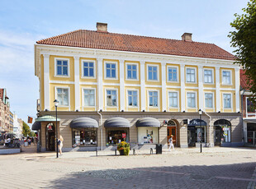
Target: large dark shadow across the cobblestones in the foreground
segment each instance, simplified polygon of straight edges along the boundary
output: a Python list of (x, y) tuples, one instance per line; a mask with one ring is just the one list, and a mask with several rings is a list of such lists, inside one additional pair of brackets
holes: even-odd
[[(200, 159), (198, 159), (200, 161)], [(113, 162), (113, 164), (115, 164)], [(247, 188), (256, 163), (120, 168), (68, 174), (53, 188)]]

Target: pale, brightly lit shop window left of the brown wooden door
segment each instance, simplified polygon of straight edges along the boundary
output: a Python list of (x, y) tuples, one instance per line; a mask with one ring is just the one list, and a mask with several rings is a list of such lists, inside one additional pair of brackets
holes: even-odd
[(159, 143), (158, 127), (138, 127), (139, 145), (152, 145)]

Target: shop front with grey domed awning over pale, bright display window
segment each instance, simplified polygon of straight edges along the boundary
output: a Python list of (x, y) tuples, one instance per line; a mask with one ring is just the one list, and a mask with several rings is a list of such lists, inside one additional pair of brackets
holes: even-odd
[(155, 118), (140, 118), (136, 122), (136, 127), (138, 129), (138, 145), (159, 143), (159, 120)]

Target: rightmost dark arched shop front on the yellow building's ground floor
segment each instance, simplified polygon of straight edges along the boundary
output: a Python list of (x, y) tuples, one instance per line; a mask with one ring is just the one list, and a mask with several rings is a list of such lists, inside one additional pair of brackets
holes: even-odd
[(231, 123), (225, 119), (214, 122), (214, 145), (224, 145), (231, 142)]

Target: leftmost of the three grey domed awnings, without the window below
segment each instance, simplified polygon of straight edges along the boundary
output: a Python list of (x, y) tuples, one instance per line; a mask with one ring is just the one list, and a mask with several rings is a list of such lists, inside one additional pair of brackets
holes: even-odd
[(70, 122), (71, 128), (97, 128), (98, 123), (95, 119), (92, 118), (75, 118)]

